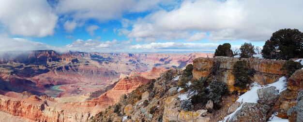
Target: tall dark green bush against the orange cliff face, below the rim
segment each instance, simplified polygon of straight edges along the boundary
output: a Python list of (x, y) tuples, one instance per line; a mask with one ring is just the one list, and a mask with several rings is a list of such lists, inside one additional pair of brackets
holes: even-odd
[(239, 87), (240, 89), (245, 89), (246, 84), (249, 83), (249, 77), (247, 74), (247, 63), (246, 61), (237, 61), (234, 66), (232, 73), (235, 76), (234, 86)]

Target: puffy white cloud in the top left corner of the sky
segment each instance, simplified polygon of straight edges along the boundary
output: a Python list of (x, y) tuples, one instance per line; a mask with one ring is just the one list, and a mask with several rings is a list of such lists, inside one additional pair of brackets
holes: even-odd
[(12, 35), (53, 35), (57, 20), (46, 0), (1, 0), (0, 23)]

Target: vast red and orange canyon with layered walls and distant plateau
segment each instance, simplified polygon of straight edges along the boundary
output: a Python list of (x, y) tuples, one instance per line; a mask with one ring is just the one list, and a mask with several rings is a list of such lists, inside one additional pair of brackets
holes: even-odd
[(87, 122), (121, 95), (197, 57), (213, 54), (4, 52), (0, 115), (12, 122), (20, 117), (24, 122)]

